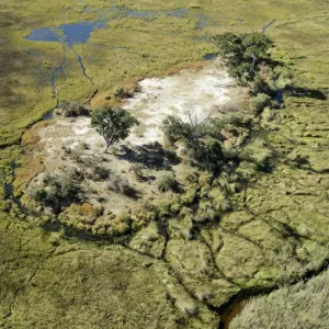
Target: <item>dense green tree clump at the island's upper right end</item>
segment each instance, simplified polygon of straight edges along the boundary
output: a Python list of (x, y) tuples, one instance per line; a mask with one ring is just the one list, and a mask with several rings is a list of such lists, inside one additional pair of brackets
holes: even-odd
[(213, 36), (219, 55), (226, 61), (228, 73), (248, 86), (256, 99), (251, 110), (259, 114), (264, 107), (280, 109), (283, 92), (287, 90), (291, 75), (284, 66), (271, 59), (272, 41), (263, 33), (236, 35), (224, 33)]

